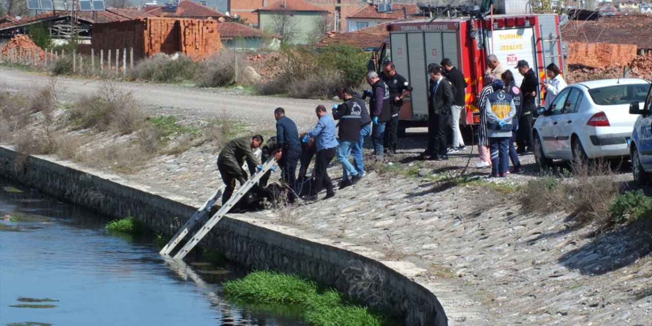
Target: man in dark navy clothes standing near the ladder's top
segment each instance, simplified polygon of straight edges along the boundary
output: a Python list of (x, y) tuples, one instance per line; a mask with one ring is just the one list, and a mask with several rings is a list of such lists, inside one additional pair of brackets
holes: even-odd
[(282, 169), (283, 182), (290, 188), (288, 200), (292, 203), (297, 193), (297, 162), (301, 156), (301, 141), (294, 121), (286, 117), (283, 108), (274, 110), (276, 119), (276, 151), (275, 158)]

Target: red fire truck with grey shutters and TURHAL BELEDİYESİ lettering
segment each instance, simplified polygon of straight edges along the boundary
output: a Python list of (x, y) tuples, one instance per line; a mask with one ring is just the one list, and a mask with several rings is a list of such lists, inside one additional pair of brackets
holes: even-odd
[[(512, 70), (517, 86), (523, 80), (514, 68), (519, 60), (526, 60), (541, 81), (546, 79), (550, 63), (562, 70), (564, 67), (557, 14), (428, 18), (389, 23), (387, 29), (389, 38), (372, 59), (378, 69), (385, 59), (391, 59), (396, 72), (413, 87), (400, 110), (399, 136), (405, 135), (406, 128), (427, 124), (430, 63), (439, 65), (442, 59), (449, 58), (464, 74), (468, 85), (466, 111), (460, 116), (460, 125), (464, 126), (479, 123), (476, 102), (482, 91), (487, 55), (496, 55), (502, 65)], [(541, 98), (539, 92), (538, 104)]]

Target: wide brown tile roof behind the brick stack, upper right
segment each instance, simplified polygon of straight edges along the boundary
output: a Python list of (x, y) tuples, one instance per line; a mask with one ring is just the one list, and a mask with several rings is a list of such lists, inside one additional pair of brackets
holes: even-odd
[(561, 27), (561, 39), (573, 42), (636, 44), (652, 49), (652, 17), (615, 16), (597, 21), (572, 20)]

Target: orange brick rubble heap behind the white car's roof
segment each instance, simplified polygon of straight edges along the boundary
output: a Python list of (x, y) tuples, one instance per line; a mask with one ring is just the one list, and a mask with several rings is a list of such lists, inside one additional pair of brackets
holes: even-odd
[[(629, 76), (632, 78), (643, 78), (652, 80), (652, 53), (647, 55), (638, 55), (629, 62)], [(608, 78), (622, 78), (624, 66), (606, 65), (600, 68), (590, 68), (585, 66), (569, 66), (569, 71), (565, 75), (568, 83), (585, 82), (587, 80), (601, 80)]]

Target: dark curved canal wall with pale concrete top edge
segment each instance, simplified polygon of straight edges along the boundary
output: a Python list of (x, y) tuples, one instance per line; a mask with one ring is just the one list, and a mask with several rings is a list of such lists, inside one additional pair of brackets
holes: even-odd
[[(0, 147), (0, 175), (104, 215), (134, 216), (156, 233), (173, 235), (201, 205), (52, 156), (29, 156), (20, 166), (17, 159), (10, 147)], [(418, 280), (424, 269), (383, 261), (383, 254), (363, 246), (278, 226), (260, 213), (227, 216), (200, 246), (251, 269), (310, 276), (367, 304), (384, 304), (403, 314), (408, 326), (448, 325), (435, 289)]]

